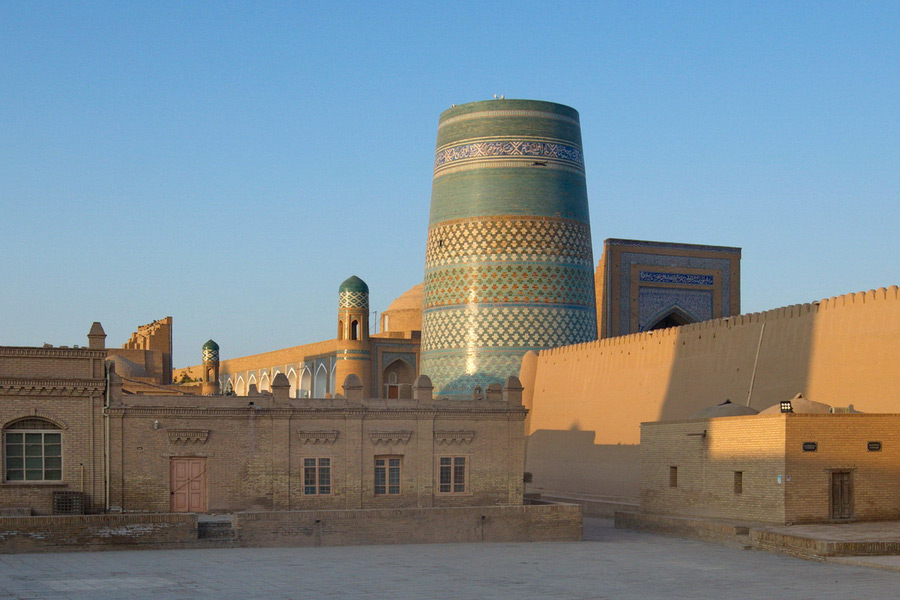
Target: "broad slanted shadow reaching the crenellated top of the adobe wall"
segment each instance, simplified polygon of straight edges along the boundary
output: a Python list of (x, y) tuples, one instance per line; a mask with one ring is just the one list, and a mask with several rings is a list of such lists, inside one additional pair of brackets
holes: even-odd
[(675, 348), (659, 420), (686, 419), (725, 400), (763, 410), (807, 394), (815, 317), (814, 304), (798, 304), (669, 333)]

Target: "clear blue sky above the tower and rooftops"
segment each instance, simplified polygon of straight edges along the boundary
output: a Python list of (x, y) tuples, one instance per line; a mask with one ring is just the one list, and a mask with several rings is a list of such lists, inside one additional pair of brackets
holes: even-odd
[(606, 238), (743, 248), (742, 309), (900, 284), (900, 3), (0, 3), (0, 344), (175, 365), (423, 277), (438, 116), (581, 113)]

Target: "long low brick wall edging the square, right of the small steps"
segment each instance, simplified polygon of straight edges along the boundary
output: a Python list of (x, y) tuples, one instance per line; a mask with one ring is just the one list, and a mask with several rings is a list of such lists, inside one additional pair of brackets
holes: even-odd
[(247, 512), (235, 514), (234, 527), (245, 547), (582, 539), (575, 504)]

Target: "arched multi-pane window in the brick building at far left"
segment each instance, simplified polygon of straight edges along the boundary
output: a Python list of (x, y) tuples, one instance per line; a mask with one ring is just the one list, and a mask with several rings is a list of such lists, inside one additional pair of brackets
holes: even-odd
[(3, 479), (62, 481), (62, 432), (46, 419), (29, 418), (3, 430)]

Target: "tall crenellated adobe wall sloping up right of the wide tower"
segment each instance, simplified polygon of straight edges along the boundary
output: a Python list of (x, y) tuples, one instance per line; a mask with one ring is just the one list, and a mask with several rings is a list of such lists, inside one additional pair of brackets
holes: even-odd
[(900, 299), (892, 286), (530, 360), (520, 374), (530, 489), (636, 497), (641, 422), (684, 419), (725, 399), (763, 409), (798, 392), (900, 412)]

